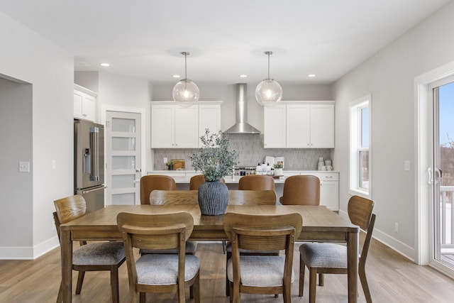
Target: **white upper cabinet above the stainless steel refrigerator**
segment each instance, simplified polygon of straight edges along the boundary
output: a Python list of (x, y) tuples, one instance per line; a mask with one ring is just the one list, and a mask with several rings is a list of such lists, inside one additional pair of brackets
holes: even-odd
[(95, 92), (74, 84), (74, 118), (94, 121), (96, 96)]

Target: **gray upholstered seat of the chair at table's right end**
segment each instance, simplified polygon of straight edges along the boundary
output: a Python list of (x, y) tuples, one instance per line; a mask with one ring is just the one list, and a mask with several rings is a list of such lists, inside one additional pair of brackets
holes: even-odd
[(304, 243), (301, 260), (309, 268), (347, 268), (347, 247), (334, 243)]

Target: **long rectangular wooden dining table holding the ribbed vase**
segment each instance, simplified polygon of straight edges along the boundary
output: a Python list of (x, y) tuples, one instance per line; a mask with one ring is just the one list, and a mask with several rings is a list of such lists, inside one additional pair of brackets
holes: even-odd
[[(196, 194), (181, 191), (184, 199)], [(184, 193), (185, 192), (185, 193)], [(175, 195), (175, 199), (181, 199)], [(303, 218), (303, 228), (298, 241), (333, 241), (347, 243), (348, 250), (348, 302), (357, 302), (358, 298), (358, 234), (359, 227), (351, 224), (325, 206), (306, 205), (251, 205), (242, 204), (241, 194), (229, 194), (226, 212), (240, 214), (275, 215), (297, 212)], [(81, 240), (121, 240), (116, 216), (121, 212), (137, 214), (165, 214), (187, 211), (194, 219), (194, 229), (190, 239), (195, 241), (227, 240), (223, 230), (223, 215), (201, 215), (199, 204), (161, 204), (161, 205), (110, 205), (86, 214), (74, 221), (60, 226), (62, 293), (63, 302), (72, 302), (72, 242)]]

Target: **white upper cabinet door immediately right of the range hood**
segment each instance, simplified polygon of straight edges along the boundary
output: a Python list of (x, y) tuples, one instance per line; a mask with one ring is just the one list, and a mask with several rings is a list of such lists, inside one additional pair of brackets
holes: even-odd
[(276, 105), (264, 108), (264, 148), (285, 148), (286, 106)]

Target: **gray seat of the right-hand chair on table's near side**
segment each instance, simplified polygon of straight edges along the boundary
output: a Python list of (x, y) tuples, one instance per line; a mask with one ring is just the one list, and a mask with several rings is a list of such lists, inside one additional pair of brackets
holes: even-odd
[[(241, 284), (262, 287), (283, 285), (284, 263), (285, 258), (278, 255), (240, 255)], [(233, 282), (232, 259), (227, 263), (227, 277)]]

